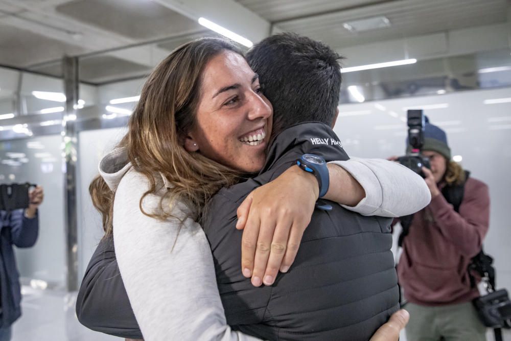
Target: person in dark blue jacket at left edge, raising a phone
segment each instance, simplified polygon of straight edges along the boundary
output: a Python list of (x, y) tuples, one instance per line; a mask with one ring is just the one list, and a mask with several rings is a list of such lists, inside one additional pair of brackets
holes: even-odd
[(0, 211), (0, 341), (11, 339), (11, 326), (21, 316), (21, 289), (12, 245), (31, 247), (37, 240), (37, 208), (43, 200), (37, 186), (29, 193), (29, 207)]

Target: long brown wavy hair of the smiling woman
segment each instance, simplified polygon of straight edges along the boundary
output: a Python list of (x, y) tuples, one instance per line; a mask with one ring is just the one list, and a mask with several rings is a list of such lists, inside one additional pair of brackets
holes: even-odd
[[(212, 161), (200, 152), (183, 147), (185, 135), (196, 124), (205, 65), (224, 51), (243, 56), (234, 44), (218, 38), (202, 38), (183, 44), (159, 63), (147, 79), (140, 100), (128, 123), (128, 133), (118, 147), (126, 148), (133, 168), (144, 174), (150, 188), (140, 199), (141, 211), (165, 220), (172, 215), (162, 202), (183, 200), (195, 218), (203, 213), (205, 202), (220, 188), (235, 184), (241, 173)], [(155, 175), (161, 173), (172, 185), (160, 200), (157, 213), (142, 208), (146, 195), (156, 193)], [(105, 236), (113, 232), (112, 214), (115, 193), (101, 176), (90, 183), (94, 207), (101, 213)]]

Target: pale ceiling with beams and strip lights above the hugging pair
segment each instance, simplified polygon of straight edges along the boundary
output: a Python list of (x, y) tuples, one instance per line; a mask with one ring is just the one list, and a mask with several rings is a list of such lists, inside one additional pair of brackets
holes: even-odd
[[(108, 50), (83, 59), (80, 70), (83, 80), (101, 83), (146, 74), (179, 44), (212, 35), (198, 16), (252, 39), (294, 31), (352, 54), (371, 43), (474, 27), (511, 31), (509, 8), (509, 0), (0, 0), (0, 65), (60, 75), (62, 56)], [(342, 25), (379, 15), (389, 28), (352, 33)], [(472, 43), (481, 42), (465, 44)], [(112, 50), (122, 47), (131, 48)]]

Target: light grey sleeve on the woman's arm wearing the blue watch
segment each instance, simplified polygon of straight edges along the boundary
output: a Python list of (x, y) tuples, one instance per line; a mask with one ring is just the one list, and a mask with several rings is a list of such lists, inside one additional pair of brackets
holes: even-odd
[(422, 210), (431, 201), (424, 179), (397, 162), (352, 157), (331, 163), (349, 172), (365, 191), (357, 206), (342, 205), (347, 210), (366, 216), (401, 217)]

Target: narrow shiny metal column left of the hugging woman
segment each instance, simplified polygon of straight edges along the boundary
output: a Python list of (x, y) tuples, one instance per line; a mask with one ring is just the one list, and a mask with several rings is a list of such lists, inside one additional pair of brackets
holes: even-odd
[(77, 150), (76, 104), (78, 103), (78, 58), (62, 59), (65, 110), (62, 115), (62, 157), (64, 173), (64, 222), (66, 248), (66, 288), (78, 290), (78, 219), (77, 219)]

